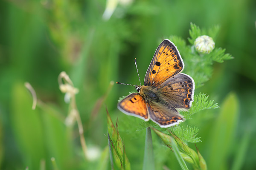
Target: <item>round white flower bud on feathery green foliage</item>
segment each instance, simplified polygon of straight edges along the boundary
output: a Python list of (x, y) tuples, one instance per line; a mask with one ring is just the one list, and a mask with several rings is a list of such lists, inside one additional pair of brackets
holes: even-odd
[(195, 50), (202, 54), (209, 54), (215, 47), (215, 42), (211, 37), (202, 35), (197, 37), (194, 42)]

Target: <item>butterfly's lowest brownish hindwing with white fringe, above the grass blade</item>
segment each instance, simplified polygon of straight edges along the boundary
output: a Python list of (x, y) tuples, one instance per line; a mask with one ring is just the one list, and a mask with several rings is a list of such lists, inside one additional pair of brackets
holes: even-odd
[(183, 122), (184, 118), (173, 108), (156, 108), (147, 104), (150, 119), (160, 127), (170, 127)]

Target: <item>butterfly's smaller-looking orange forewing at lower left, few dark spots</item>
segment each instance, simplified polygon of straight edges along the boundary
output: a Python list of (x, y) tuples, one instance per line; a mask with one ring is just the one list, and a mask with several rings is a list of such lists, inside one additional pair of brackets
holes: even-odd
[(117, 108), (123, 113), (138, 117), (145, 121), (149, 120), (146, 102), (139, 93), (132, 93), (117, 104)]

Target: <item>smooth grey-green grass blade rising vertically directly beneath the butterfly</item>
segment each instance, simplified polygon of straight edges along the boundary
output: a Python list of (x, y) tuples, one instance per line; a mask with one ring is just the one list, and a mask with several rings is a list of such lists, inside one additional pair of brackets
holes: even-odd
[(146, 128), (143, 170), (154, 170), (153, 144), (150, 127)]

